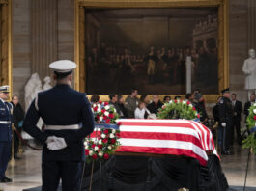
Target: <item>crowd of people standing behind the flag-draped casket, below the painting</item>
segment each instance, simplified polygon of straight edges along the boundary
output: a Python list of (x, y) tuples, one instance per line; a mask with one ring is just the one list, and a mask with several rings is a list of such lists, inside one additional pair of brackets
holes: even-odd
[[(180, 98), (180, 96), (174, 97), (174, 99)], [(156, 119), (158, 109), (172, 98), (166, 95), (163, 98), (163, 102), (159, 100), (158, 95), (153, 95), (152, 100), (149, 99), (149, 95), (141, 95), (138, 98), (138, 90), (132, 89), (131, 94), (126, 99), (124, 99), (123, 95), (109, 95), (109, 99), (109, 104), (115, 107), (121, 118)], [(93, 95), (91, 97), (92, 103), (99, 102), (99, 100), (99, 95)], [(250, 100), (245, 103), (244, 109), (242, 110), (242, 102), (237, 100), (237, 95), (230, 95), (229, 91), (225, 89), (213, 107), (213, 119), (208, 115), (205, 99), (199, 89), (186, 94), (185, 100), (191, 102), (197, 112), (200, 113), (200, 121), (202, 123), (211, 127), (215, 124), (218, 127), (217, 142), (222, 154), (232, 154), (231, 149), (235, 140), (235, 132), (237, 143), (242, 145), (242, 112), (244, 111), (244, 123), (246, 123), (248, 109), (255, 103), (255, 94), (251, 95)]]

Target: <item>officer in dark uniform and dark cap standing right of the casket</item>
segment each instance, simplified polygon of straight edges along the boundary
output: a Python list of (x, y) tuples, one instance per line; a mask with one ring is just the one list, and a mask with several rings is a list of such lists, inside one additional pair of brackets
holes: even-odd
[(231, 142), (231, 128), (232, 128), (232, 102), (230, 100), (229, 88), (221, 91), (222, 97), (219, 100), (218, 114), (219, 114), (219, 123), (220, 127), (223, 130), (222, 135), (222, 145), (221, 153), (222, 154), (231, 154), (230, 142)]

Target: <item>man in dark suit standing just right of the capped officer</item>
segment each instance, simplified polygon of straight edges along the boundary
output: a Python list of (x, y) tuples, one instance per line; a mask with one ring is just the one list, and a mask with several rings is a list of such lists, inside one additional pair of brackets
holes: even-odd
[(234, 129), (236, 128), (237, 132), (237, 141), (238, 144), (242, 144), (242, 137), (241, 137), (241, 114), (242, 114), (242, 103), (241, 101), (237, 100), (237, 95), (231, 95), (232, 101), (232, 110), (233, 110), (233, 118), (232, 118), (232, 128), (231, 128), (231, 144), (234, 142)]

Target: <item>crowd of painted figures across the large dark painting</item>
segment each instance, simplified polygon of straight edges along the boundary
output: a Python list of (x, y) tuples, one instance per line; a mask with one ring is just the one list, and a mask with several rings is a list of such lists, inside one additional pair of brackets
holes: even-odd
[[(128, 94), (129, 87), (135, 84), (138, 75), (148, 76), (149, 85), (157, 83), (185, 84), (187, 56), (190, 56), (192, 60), (194, 81), (203, 86), (217, 85), (213, 80), (217, 77), (216, 48), (161, 47), (156, 49), (152, 46), (148, 53), (134, 54), (126, 47), (110, 47), (101, 43), (100, 49), (93, 48), (88, 55), (86, 87), (89, 89), (87, 93)], [(102, 83), (99, 80), (100, 76), (104, 76), (106, 86), (100, 86)]]

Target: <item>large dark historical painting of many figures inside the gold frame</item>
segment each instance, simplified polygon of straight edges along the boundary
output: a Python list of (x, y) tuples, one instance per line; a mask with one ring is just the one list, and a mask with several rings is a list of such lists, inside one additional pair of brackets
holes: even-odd
[[(85, 9), (87, 94), (218, 93), (217, 8)], [(187, 59), (187, 58), (191, 59)], [(191, 60), (191, 62), (187, 62)]]

